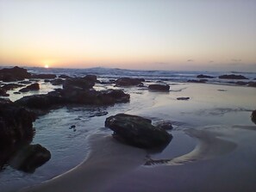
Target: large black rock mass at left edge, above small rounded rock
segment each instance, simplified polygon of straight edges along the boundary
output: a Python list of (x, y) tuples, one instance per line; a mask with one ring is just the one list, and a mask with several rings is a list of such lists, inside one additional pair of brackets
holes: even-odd
[(0, 168), (18, 146), (31, 142), (34, 120), (34, 113), (0, 98)]

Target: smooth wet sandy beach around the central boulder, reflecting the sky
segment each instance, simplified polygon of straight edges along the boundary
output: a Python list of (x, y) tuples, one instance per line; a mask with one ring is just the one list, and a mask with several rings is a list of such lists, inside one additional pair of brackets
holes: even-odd
[[(172, 121), (173, 139), (163, 152), (126, 146), (109, 132), (95, 133), (88, 139), (91, 150), (83, 163), (22, 191), (253, 192), (256, 127), (250, 114), (255, 89), (176, 84), (172, 90), (128, 90), (132, 99), (126, 113), (153, 123)], [(190, 96), (190, 100), (178, 101), (177, 96)]]

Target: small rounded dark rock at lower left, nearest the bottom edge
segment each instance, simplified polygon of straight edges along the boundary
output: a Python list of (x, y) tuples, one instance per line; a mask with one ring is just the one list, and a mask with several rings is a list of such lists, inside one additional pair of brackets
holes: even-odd
[(9, 164), (16, 170), (33, 173), (34, 170), (45, 164), (51, 158), (51, 152), (47, 148), (36, 144), (23, 146)]

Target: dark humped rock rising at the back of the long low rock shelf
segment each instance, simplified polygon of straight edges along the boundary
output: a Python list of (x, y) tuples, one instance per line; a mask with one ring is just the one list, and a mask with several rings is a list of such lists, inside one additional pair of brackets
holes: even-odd
[(88, 81), (82, 77), (67, 78), (63, 83), (64, 90), (90, 90), (95, 82)]

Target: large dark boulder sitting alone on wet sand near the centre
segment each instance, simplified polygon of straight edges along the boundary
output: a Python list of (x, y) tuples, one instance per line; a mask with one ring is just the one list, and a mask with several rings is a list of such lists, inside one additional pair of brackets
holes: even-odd
[(151, 120), (136, 115), (109, 116), (105, 121), (105, 127), (114, 131), (114, 138), (140, 148), (162, 148), (172, 140), (172, 134), (162, 128), (154, 127)]

